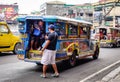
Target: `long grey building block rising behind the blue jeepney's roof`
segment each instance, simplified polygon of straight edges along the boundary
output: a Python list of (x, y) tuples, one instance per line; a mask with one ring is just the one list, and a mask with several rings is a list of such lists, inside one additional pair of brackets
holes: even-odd
[(51, 1), (40, 6), (40, 15), (58, 15), (92, 22), (93, 6), (87, 3), (72, 5), (61, 1)]

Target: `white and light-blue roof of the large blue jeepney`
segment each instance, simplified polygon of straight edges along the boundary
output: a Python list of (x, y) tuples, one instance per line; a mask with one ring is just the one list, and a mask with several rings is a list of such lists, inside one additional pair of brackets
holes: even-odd
[(36, 20), (43, 20), (43, 21), (66, 21), (68, 23), (73, 23), (73, 24), (88, 24), (92, 25), (91, 22), (87, 22), (85, 20), (78, 20), (78, 19), (73, 19), (73, 18), (67, 18), (67, 17), (61, 17), (61, 16), (53, 16), (53, 15), (46, 15), (46, 16), (22, 16), (18, 17), (18, 20), (26, 20), (26, 19), (36, 19)]

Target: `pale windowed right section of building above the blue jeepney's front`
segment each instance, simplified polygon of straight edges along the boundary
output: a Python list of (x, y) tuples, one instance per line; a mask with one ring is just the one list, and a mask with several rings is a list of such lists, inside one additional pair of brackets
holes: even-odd
[(73, 10), (73, 18), (83, 19), (89, 22), (93, 22), (93, 6), (90, 3), (75, 5), (71, 7)]

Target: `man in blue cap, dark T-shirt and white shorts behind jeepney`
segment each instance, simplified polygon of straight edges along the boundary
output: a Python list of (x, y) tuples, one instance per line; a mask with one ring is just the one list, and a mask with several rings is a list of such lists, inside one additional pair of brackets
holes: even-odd
[(55, 57), (56, 57), (56, 44), (57, 44), (57, 39), (58, 39), (58, 34), (54, 31), (55, 26), (53, 24), (48, 26), (48, 30), (50, 34), (48, 34), (48, 38), (45, 42), (45, 45), (41, 49), (43, 52), (43, 56), (41, 59), (41, 64), (43, 64), (43, 74), (41, 77), (45, 78), (46, 77), (46, 70), (47, 70), (47, 65), (52, 64), (52, 67), (55, 71), (55, 73), (52, 75), (53, 77), (58, 77), (58, 69), (55, 63)]

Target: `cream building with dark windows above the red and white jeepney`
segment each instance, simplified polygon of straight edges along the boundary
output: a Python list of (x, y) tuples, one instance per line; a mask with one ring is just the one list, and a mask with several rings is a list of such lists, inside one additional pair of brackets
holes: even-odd
[(94, 26), (120, 27), (119, 0), (101, 0), (94, 3)]

